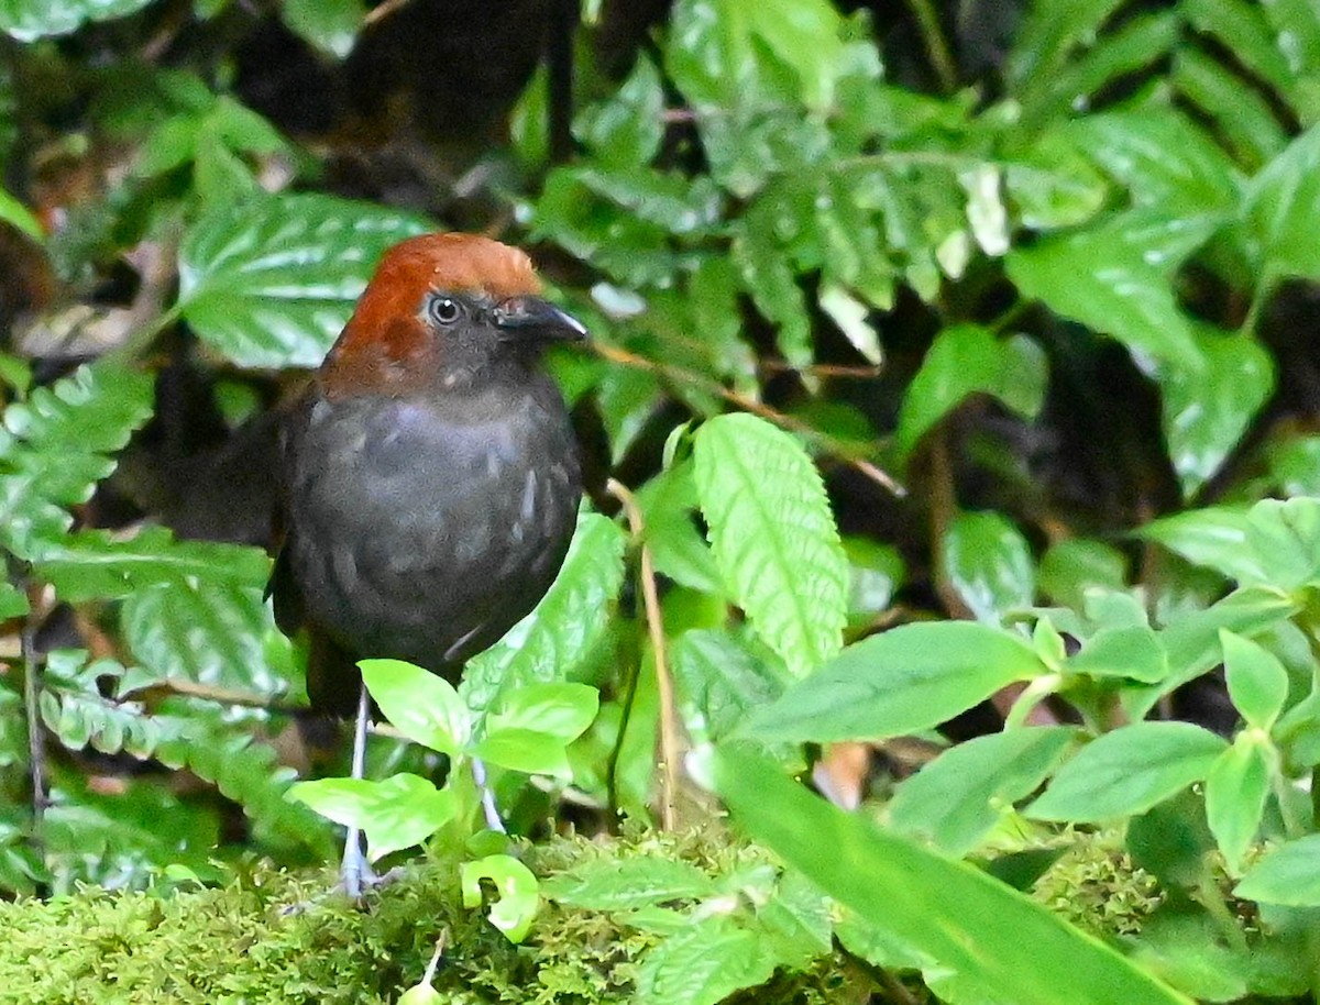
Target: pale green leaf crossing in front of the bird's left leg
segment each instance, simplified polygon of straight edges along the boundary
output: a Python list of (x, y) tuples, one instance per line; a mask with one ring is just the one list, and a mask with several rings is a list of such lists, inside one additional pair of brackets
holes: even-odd
[(438, 790), (425, 778), (401, 772), (372, 782), (366, 778), (319, 778), (289, 786), (289, 799), (345, 827), (367, 835), (367, 857), (420, 844), (449, 823), (458, 811), (451, 791)]

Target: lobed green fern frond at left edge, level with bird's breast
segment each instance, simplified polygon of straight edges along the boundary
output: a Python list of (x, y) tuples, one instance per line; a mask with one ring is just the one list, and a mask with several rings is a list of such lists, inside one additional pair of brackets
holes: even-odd
[(91, 499), (115, 470), (108, 456), (152, 414), (152, 380), (98, 363), (79, 367), (4, 410), (0, 429), (0, 541), (32, 558), (34, 538), (73, 525), (67, 506)]

